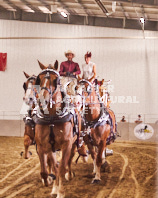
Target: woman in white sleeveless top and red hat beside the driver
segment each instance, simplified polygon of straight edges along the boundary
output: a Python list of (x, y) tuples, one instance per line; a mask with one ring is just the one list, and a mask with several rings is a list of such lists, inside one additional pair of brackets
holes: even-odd
[(84, 56), (85, 63), (82, 65), (83, 68), (82, 78), (92, 83), (96, 77), (96, 66), (95, 63), (91, 62), (91, 57), (92, 57), (91, 52), (87, 52)]

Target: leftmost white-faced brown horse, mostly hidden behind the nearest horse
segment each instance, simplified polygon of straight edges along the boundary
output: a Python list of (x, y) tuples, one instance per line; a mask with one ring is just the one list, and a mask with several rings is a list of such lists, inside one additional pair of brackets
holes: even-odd
[[(34, 144), (35, 138), (35, 126), (34, 122), (31, 119), (32, 109), (35, 107), (35, 100), (36, 100), (36, 91), (34, 89), (34, 85), (36, 82), (35, 75), (28, 75), (24, 72), (24, 75), (27, 78), (27, 81), (24, 82), (23, 88), (25, 90), (25, 95), (23, 97), (24, 102), (29, 106), (28, 116), (24, 119), (25, 121), (25, 132), (24, 132), (24, 158), (28, 159), (31, 155), (29, 152), (29, 146)], [(23, 152), (21, 152), (21, 155)]]

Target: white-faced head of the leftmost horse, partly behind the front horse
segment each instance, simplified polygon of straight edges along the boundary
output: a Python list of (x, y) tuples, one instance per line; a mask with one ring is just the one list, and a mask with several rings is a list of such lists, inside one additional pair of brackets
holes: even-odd
[(23, 97), (23, 100), (27, 105), (32, 106), (35, 102), (36, 98), (36, 90), (35, 90), (35, 83), (36, 83), (36, 76), (35, 75), (28, 75), (26, 72), (24, 72), (25, 77), (27, 78), (27, 81), (24, 82), (23, 88), (25, 90), (25, 95)]

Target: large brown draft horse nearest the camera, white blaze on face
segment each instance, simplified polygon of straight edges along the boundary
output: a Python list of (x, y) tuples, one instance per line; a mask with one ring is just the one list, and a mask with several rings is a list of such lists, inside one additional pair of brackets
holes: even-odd
[[(73, 117), (70, 120), (62, 121), (62, 112), (67, 107), (63, 103), (59, 74), (56, 71), (58, 62), (56, 61), (54, 67), (45, 67), (40, 63), (40, 67), (43, 71), (38, 75), (36, 84), (40, 85), (41, 88), (39, 92), (38, 116), (38, 119), (41, 118), (41, 123), (36, 122), (35, 140), (41, 164), (41, 177), (44, 179), (45, 184), (48, 185), (48, 172), (46, 169), (48, 155), (52, 160), (56, 176), (51, 194), (57, 194), (57, 198), (63, 198), (65, 197), (63, 178), (66, 176), (70, 180), (73, 177), (71, 162), (75, 154), (77, 135), (73, 136)], [(79, 119), (79, 114), (77, 117), (80, 126), (81, 119)], [(55, 157), (55, 151), (57, 150), (62, 152), (62, 159), (59, 165)], [(66, 174), (67, 166), (68, 173)]]

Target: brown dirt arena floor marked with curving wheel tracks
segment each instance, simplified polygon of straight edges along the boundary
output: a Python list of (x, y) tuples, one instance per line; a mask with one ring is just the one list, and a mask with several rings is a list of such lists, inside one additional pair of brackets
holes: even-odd
[[(107, 157), (100, 184), (91, 184), (90, 156), (88, 163), (73, 163), (76, 177), (64, 182), (66, 198), (158, 198), (158, 146), (115, 142), (109, 148), (114, 154)], [(28, 160), (20, 156), (23, 150), (23, 138), (0, 137), (0, 197), (50, 198), (52, 186), (42, 185), (35, 147), (30, 147), (33, 155)]]

